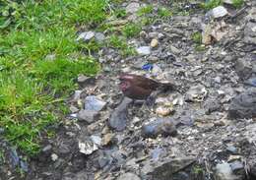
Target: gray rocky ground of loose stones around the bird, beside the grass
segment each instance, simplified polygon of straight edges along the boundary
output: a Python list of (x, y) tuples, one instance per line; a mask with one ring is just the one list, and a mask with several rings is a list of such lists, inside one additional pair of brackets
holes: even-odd
[[(140, 7), (160, 3), (168, 6), (121, 4), (125, 21), (140, 22)], [(17, 165), (28, 171), (25, 179), (38, 180), (255, 179), (256, 2), (215, 10), (145, 26), (129, 40), (137, 55), (123, 58), (110, 47), (93, 54), (102, 71), (96, 78), (78, 77), (80, 89), (67, 100), (72, 113), (56, 137), (43, 142), (29, 165), (16, 150), (4, 150), (0, 179), (19, 179), (10, 170)], [(197, 32), (203, 44), (193, 40)], [(149, 111), (123, 98), (121, 72), (174, 82), (180, 92), (160, 94)]]

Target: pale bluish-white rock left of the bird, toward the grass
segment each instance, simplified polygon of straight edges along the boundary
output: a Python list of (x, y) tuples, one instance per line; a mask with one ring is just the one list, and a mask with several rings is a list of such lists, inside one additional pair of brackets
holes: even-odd
[(96, 97), (95, 95), (89, 95), (85, 99), (85, 109), (100, 111), (106, 105), (106, 102)]

